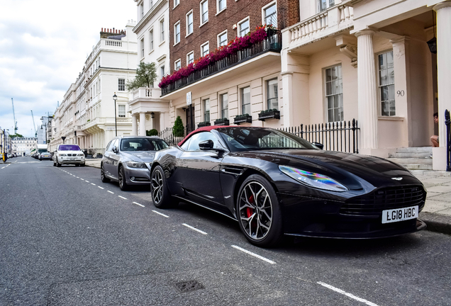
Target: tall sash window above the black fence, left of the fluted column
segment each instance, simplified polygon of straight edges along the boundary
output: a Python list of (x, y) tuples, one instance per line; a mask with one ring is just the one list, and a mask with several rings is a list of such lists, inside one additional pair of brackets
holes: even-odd
[(325, 69), (325, 101), (328, 122), (343, 120), (343, 80), (341, 65)]

